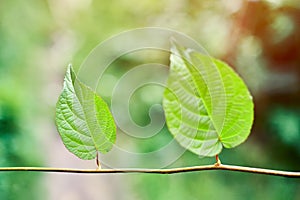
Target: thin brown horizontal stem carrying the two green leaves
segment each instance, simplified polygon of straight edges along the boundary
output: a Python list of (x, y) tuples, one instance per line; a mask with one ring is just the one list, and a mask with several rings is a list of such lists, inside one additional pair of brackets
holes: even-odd
[(115, 174), (115, 173), (151, 173), (151, 174), (176, 174), (185, 172), (198, 172), (207, 170), (238, 171), (254, 174), (265, 174), (272, 176), (283, 176), (290, 178), (300, 178), (300, 172), (289, 172), (253, 167), (243, 167), (234, 165), (203, 165), (194, 167), (182, 167), (172, 169), (71, 169), (71, 168), (46, 168), (46, 167), (2, 167), (0, 172), (7, 171), (35, 171), (35, 172), (56, 172), (56, 173), (82, 173), (82, 174)]

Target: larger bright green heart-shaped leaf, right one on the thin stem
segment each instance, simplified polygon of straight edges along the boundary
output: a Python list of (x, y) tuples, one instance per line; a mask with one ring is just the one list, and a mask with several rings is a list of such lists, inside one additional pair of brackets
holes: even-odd
[(177, 44), (170, 60), (163, 107), (175, 139), (200, 156), (244, 142), (253, 102), (242, 79), (224, 62)]

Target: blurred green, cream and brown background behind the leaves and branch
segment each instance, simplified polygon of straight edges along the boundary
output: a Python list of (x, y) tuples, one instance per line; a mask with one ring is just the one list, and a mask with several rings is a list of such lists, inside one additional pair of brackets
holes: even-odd
[[(55, 128), (55, 103), (66, 66), (73, 63), (78, 69), (89, 52), (113, 34), (148, 26), (191, 36), (235, 68), (249, 86), (255, 101), (252, 133), (239, 147), (223, 150), (224, 163), (300, 171), (297, 0), (0, 0), (0, 166), (95, 168), (94, 161), (70, 154)], [(110, 76), (102, 82), (106, 90), (144, 62), (141, 58), (133, 54), (112, 63)], [(169, 62), (166, 53), (151, 59)], [(146, 87), (132, 96), (135, 123), (149, 123), (149, 108), (161, 101), (159, 91)], [(102, 95), (110, 104), (108, 93)], [(118, 134), (122, 138), (122, 132)], [(124, 135), (119, 145), (146, 153), (171, 140), (166, 128), (144, 140)], [(156, 158), (148, 162), (151, 166)], [(214, 162), (185, 152), (168, 167)], [(1, 200), (217, 198), (299, 199), (300, 182), (219, 171), (172, 176), (0, 173)]]

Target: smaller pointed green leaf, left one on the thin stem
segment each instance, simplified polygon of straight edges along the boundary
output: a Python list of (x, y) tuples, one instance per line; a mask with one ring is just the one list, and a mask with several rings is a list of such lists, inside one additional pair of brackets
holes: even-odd
[(66, 148), (81, 159), (111, 150), (116, 126), (107, 104), (69, 66), (56, 104), (56, 126)]

